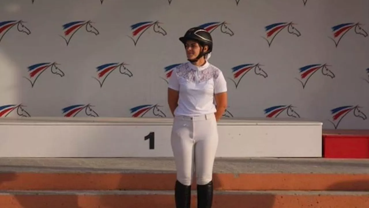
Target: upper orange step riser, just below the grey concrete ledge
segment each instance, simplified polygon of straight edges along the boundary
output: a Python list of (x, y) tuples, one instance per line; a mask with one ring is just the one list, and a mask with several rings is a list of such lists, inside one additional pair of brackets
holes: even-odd
[[(173, 190), (175, 180), (174, 173), (0, 173), (0, 190)], [(369, 191), (369, 174), (215, 173), (213, 181), (227, 191)]]

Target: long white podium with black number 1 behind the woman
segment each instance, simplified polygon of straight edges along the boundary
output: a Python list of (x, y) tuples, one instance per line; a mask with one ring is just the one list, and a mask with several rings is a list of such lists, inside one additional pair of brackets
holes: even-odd
[[(5, 117), (0, 157), (172, 157), (170, 118)], [(217, 157), (321, 157), (322, 123), (221, 119)]]

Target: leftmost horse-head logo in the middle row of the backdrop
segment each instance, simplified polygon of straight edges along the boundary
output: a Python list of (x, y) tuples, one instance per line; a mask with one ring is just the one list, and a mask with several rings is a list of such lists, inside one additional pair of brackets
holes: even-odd
[(58, 65), (60, 64), (56, 62), (33, 64), (28, 67), (28, 77), (24, 78), (31, 82), (31, 87), (33, 88), (38, 77), (41, 76), (41, 74), (44, 73), (46, 70), (50, 70), (52, 74), (64, 77), (64, 72), (58, 67)]

